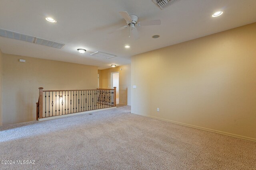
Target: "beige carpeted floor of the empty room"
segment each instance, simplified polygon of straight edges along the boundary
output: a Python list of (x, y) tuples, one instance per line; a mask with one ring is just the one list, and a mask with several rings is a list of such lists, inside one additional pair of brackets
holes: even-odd
[(130, 113), (129, 106), (0, 127), (0, 169), (252, 170), (256, 143)]

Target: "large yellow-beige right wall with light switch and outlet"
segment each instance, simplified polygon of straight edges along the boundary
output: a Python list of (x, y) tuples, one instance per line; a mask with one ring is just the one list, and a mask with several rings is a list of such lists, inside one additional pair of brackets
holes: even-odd
[(256, 23), (133, 56), (131, 72), (132, 113), (256, 139)]

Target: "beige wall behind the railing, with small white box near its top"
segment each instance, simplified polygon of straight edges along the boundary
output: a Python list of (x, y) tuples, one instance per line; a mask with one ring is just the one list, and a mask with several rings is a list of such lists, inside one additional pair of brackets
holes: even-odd
[[(26, 63), (19, 62), (26, 59)], [(36, 119), (38, 88), (44, 90), (96, 89), (97, 67), (3, 55), (3, 125)]]

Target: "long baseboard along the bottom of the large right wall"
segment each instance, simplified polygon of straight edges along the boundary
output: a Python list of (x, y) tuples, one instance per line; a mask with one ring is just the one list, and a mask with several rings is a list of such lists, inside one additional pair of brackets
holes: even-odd
[(208, 129), (208, 128), (205, 128), (205, 127), (190, 125), (190, 124), (186, 124), (186, 123), (181, 123), (181, 122), (172, 121), (172, 120), (168, 120), (168, 119), (162, 119), (162, 118), (159, 118), (159, 117), (154, 117), (154, 116), (149, 116), (149, 115), (142, 115), (142, 114), (138, 114), (138, 113), (133, 113), (133, 114), (141, 115), (141, 116), (145, 116), (145, 117), (150, 117), (150, 118), (158, 119), (158, 120), (162, 120), (162, 121), (168, 121), (168, 122), (171, 122), (171, 123), (176, 123), (178, 125), (184, 125), (184, 126), (193, 127), (193, 128), (196, 128), (196, 129), (201, 129), (201, 130), (204, 130), (204, 131), (210, 131), (210, 132), (219, 133), (219, 134), (222, 134), (222, 135), (228, 135), (228, 136), (231, 136), (231, 137), (236, 137), (236, 138), (256, 142), (256, 139), (250, 138), (250, 137), (245, 137), (245, 136), (236, 135), (236, 134), (232, 134), (232, 133), (217, 131), (217, 130), (214, 130), (214, 129)]

